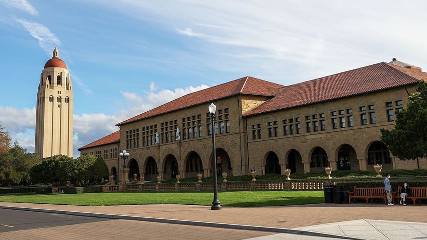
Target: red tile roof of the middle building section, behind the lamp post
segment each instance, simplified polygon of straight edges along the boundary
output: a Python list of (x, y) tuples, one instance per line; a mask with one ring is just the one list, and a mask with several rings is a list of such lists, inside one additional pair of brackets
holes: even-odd
[(250, 94), (272, 97), (278, 93), (278, 89), (281, 87), (284, 86), (275, 83), (270, 83), (255, 77), (246, 76), (225, 84), (187, 94), (171, 102), (165, 103), (157, 108), (149, 110), (145, 113), (129, 118), (121, 123), (116, 124), (116, 126), (176, 111), (179, 109), (188, 108), (202, 103), (210, 103), (218, 99), (238, 94)]

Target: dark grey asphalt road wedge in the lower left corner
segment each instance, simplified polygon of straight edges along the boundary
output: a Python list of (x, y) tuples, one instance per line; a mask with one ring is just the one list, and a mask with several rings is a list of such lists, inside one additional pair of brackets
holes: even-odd
[(111, 219), (0, 209), (0, 232), (43, 227), (56, 227), (109, 220)]

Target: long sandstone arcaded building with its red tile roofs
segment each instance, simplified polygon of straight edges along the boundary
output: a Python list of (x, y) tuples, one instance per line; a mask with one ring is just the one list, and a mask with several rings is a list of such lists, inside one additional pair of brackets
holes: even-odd
[(218, 174), (427, 168), (425, 159), (394, 157), (380, 141), (380, 129), (394, 127), (395, 111), (421, 79), (427, 79), (421, 68), (395, 59), (291, 86), (247, 76), (127, 119), (119, 131), (79, 150), (103, 157), (115, 176), (123, 149), (130, 153), (129, 176), (210, 176), (208, 106), (214, 103)]

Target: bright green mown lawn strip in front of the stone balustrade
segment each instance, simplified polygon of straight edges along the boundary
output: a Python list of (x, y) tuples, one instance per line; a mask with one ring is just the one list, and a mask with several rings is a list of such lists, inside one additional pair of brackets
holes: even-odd
[[(323, 203), (323, 191), (219, 192), (222, 206), (255, 207)], [(133, 204), (211, 205), (211, 192), (117, 192), (85, 194), (0, 195), (0, 202), (45, 203), (82, 206)]]

